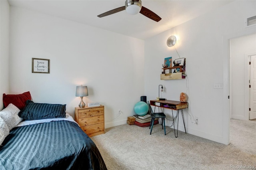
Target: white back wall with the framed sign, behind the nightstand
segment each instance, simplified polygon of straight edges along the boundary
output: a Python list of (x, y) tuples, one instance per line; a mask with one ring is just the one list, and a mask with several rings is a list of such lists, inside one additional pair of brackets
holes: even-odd
[[(32, 73), (33, 57), (50, 59), (50, 74)], [(10, 8), (10, 93), (30, 91), (34, 102), (67, 104), (74, 116), (80, 102), (76, 86), (87, 85), (84, 101), (105, 106), (108, 128), (134, 115), (144, 95), (143, 70), (142, 40)]]

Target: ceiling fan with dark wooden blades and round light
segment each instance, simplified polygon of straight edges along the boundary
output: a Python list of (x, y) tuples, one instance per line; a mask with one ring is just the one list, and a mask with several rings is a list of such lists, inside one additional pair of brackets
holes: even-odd
[(160, 21), (162, 18), (160, 18), (158, 15), (156, 15), (154, 12), (150, 11), (148, 8), (145, 8), (142, 6), (141, 0), (126, 0), (125, 6), (116, 8), (114, 10), (110, 10), (108, 12), (104, 12), (103, 14), (98, 15), (98, 17), (104, 17), (111, 14), (114, 14), (116, 12), (120, 12), (126, 10), (127, 13), (135, 15), (140, 12), (140, 14), (150, 18), (151, 20), (154, 20), (156, 22)]

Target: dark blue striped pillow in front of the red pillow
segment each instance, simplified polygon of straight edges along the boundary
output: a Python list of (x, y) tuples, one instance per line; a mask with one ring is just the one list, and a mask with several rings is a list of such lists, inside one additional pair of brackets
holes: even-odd
[(27, 100), (25, 108), (19, 112), (19, 117), (26, 120), (66, 117), (66, 105), (34, 103)]

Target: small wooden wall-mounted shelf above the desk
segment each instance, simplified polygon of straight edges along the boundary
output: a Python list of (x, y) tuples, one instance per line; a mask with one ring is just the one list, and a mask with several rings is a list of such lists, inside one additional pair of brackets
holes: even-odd
[(172, 69), (180, 69), (180, 71), (183, 70), (183, 65), (175, 66), (175, 67), (166, 67), (162, 68), (164, 71), (164, 74), (160, 75), (161, 80), (176, 80), (176, 79), (184, 79), (185, 78), (185, 72), (179, 72), (179, 73), (171, 73)]

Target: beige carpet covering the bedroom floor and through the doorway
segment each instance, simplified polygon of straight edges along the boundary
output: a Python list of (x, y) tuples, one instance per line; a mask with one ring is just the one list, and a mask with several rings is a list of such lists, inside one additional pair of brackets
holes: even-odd
[[(228, 170), (256, 169), (256, 122), (231, 120), (230, 145), (224, 145), (161, 125), (120, 125), (92, 137), (108, 170)], [(232, 168), (231, 168), (232, 169)]]

